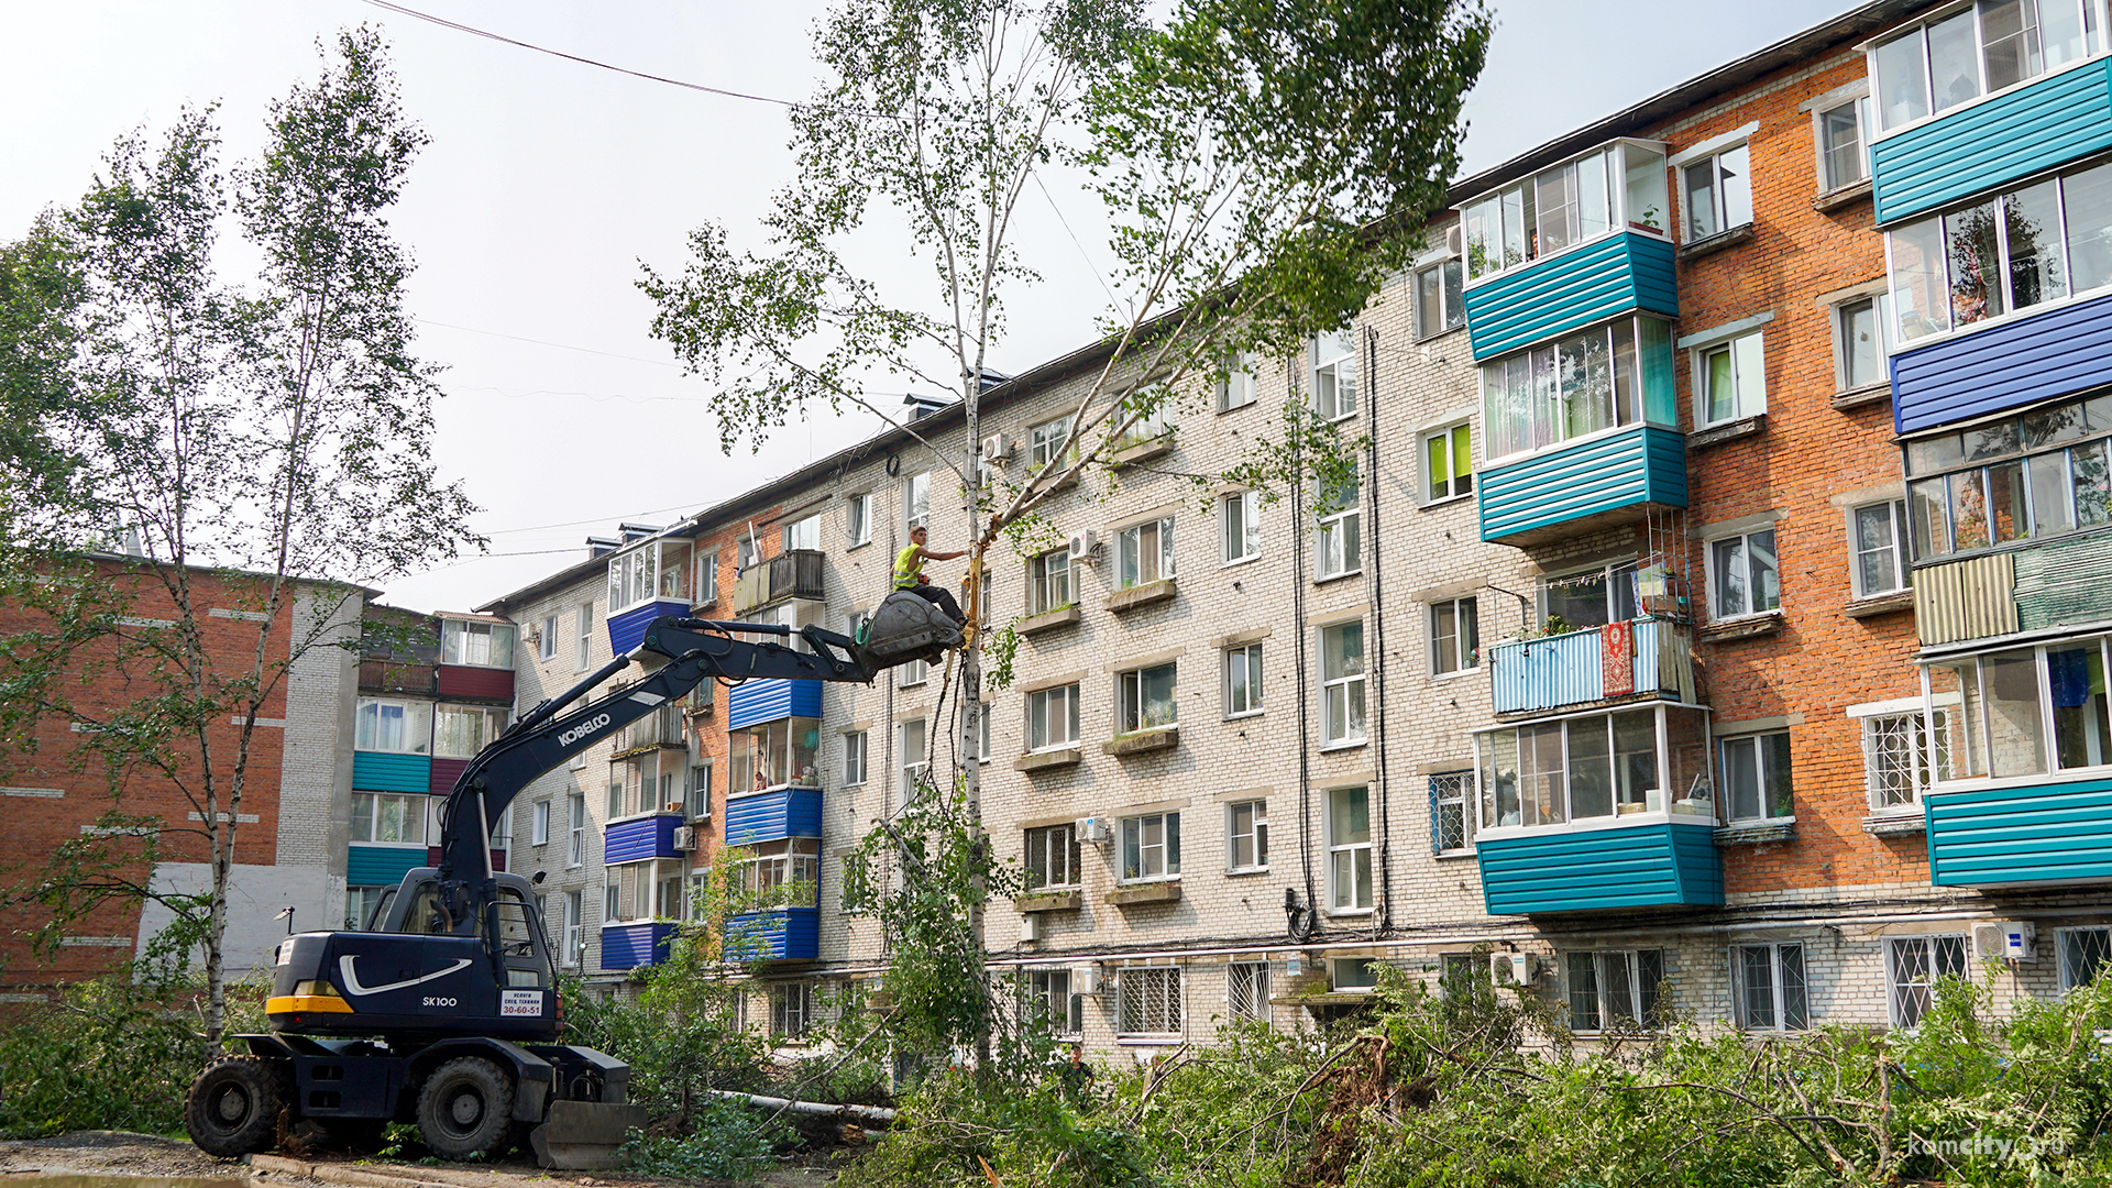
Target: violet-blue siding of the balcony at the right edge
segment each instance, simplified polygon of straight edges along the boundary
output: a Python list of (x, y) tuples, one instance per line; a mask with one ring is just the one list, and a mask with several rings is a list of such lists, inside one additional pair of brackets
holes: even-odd
[(2112, 383), (2112, 294), (1892, 355), (1901, 433)]

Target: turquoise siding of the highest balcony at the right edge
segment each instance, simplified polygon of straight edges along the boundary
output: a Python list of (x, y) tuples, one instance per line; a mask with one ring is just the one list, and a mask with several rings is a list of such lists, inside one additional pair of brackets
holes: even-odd
[(2063, 70), (1869, 146), (1878, 222), (1928, 214), (2112, 148), (2112, 59)]

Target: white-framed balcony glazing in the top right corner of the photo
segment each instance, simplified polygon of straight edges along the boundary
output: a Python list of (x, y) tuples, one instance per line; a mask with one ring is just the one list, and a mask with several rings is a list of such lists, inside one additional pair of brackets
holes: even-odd
[(1981, 0), (1871, 51), (1886, 129), (2080, 61), (2104, 49), (2097, 0)]

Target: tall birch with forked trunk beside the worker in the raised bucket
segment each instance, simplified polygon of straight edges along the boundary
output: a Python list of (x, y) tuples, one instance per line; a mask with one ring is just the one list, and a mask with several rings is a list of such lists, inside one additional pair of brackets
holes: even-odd
[[(895, 376), (955, 393), (963, 446), (934, 452), (959, 480), (982, 573), (986, 550), (1031, 535), (1041, 503), (1109, 467), (1134, 427), (1198, 408), (1242, 353), (1288, 359), (1364, 307), (1442, 205), (1487, 38), (1478, 0), (1178, 0), (1159, 25), (1136, 0), (843, 0), (815, 32), (830, 80), (794, 110), (798, 175), (765, 220), (769, 252), (695, 230), (682, 273), (646, 268), (653, 332), (714, 385), (729, 450), (790, 414), (855, 406), (893, 423), (868, 385)], [(1037, 279), (1018, 211), (1052, 163), (1107, 211), (1111, 349), (1062, 461), (982, 486), (1003, 296)], [(931, 264), (929, 304), (889, 304), (845, 260), (874, 199)], [(1295, 406), (1225, 474), (1195, 480), (1339, 484), (1352, 448)], [(959, 755), (980, 731), (986, 638), (961, 664)], [(980, 820), (978, 765), (963, 767)]]

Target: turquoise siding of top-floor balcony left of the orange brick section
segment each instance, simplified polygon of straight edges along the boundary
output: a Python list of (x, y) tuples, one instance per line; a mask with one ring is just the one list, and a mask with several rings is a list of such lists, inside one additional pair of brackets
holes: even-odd
[(1624, 230), (1468, 290), (1466, 332), (1481, 361), (1639, 309), (1679, 315), (1673, 245)]

